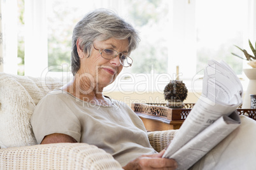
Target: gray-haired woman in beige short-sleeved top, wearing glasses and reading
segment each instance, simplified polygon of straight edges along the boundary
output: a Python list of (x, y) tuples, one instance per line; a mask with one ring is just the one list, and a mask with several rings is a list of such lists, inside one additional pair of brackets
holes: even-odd
[(31, 124), (38, 143), (96, 145), (124, 169), (175, 169), (150, 146), (143, 122), (125, 103), (103, 95), (123, 67), (132, 65), (138, 33), (108, 10), (96, 10), (73, 31), (73, 81), (37, 105)]

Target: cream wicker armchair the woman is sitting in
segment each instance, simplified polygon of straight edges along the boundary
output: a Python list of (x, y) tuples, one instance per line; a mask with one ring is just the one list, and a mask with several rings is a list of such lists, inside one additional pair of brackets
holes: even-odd
[[(0, 169), (122, 169), (112, 155), (87, 143), (36, 145), (32, 110), (43, 96), (67, 81), (0, 73)], [(175, 133), (155, 131), (148, 138), (160, 152)]]

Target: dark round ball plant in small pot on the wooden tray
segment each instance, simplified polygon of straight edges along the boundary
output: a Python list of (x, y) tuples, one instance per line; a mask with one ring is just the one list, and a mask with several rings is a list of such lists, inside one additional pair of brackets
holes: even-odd
[(170, 81), (164, 88), (164, 99), (167, 100), (167, 107), (182, 108), (187, 93), (187, 87), (182, 81)]

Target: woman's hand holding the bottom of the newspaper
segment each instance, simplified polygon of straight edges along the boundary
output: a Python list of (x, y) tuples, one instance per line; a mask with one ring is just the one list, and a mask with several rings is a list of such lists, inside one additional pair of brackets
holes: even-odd
[(174, 159), (162, 158), (165, 150), (159, 154), (142, 155), (134, 160), (131, 160), (123, 169), (137, 170), (137, 169), (176, 169), (177, 162)]

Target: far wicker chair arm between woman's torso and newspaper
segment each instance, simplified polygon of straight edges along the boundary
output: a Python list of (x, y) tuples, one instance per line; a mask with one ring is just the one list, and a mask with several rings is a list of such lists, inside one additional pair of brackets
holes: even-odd
[(148, 140), (150, 141), (151, 146), (157, 152), (160, 152), (171, 143), (176, 132), (178, 132), (178, 130), (148, 132)]

